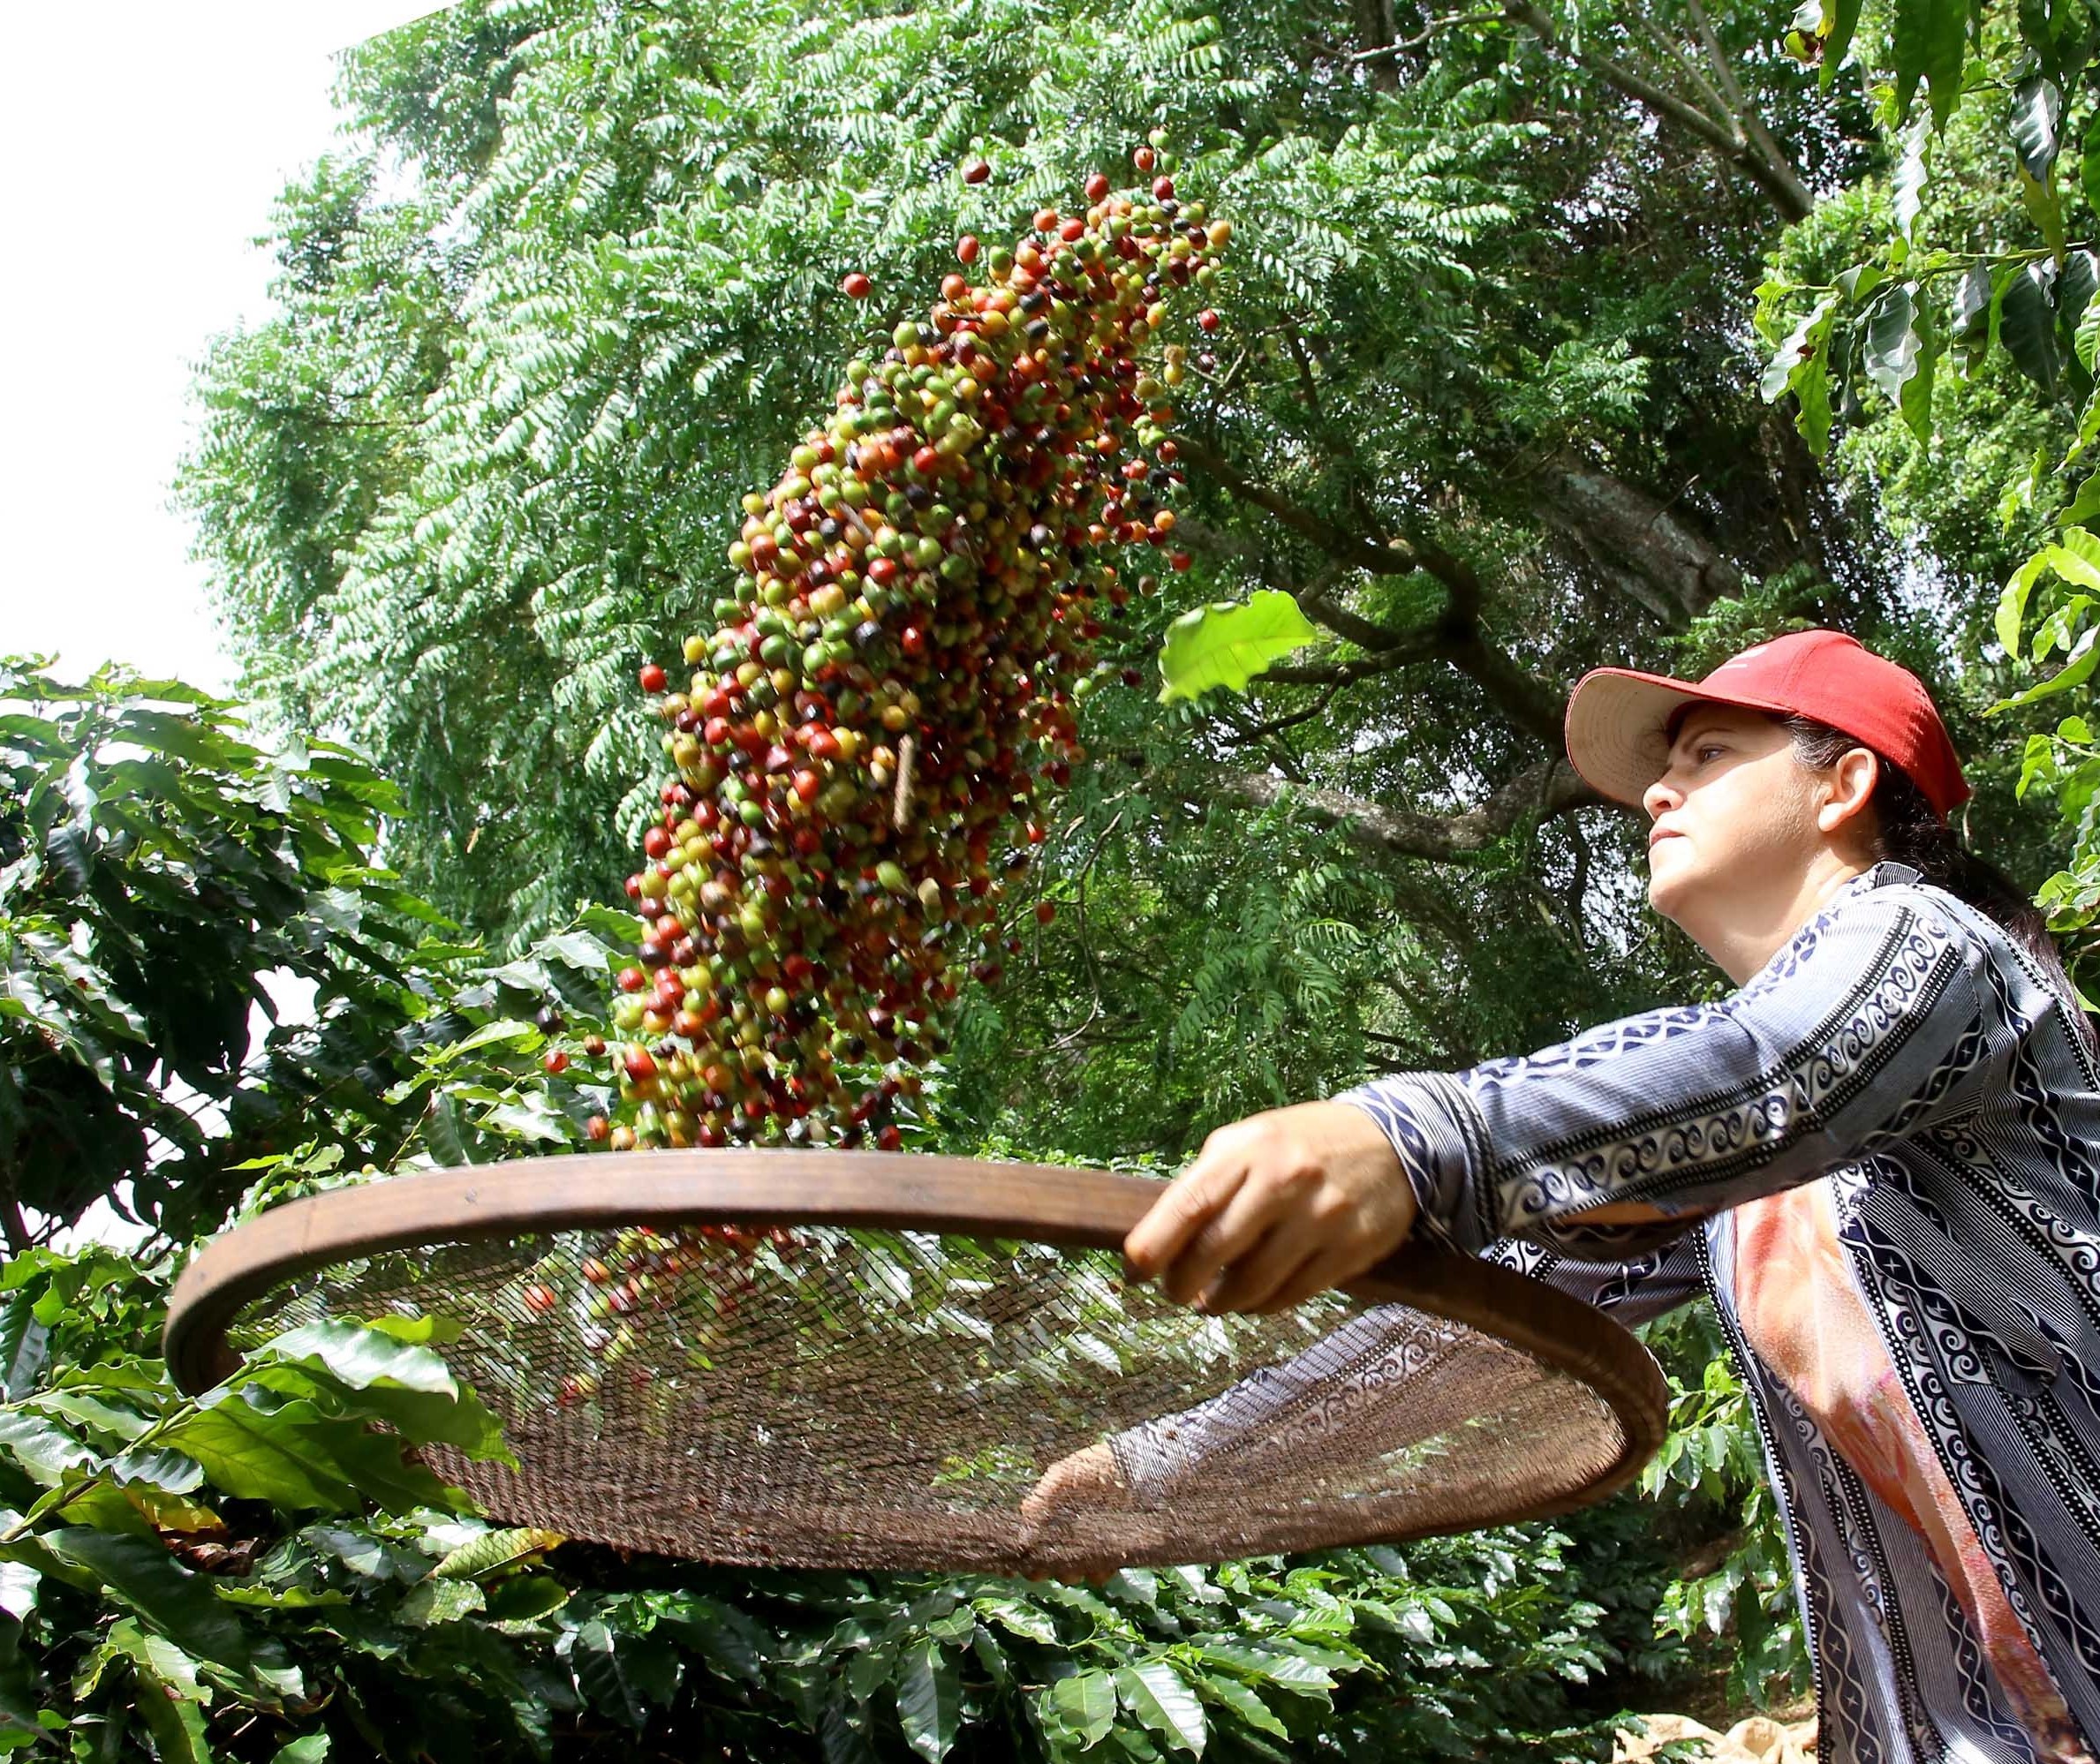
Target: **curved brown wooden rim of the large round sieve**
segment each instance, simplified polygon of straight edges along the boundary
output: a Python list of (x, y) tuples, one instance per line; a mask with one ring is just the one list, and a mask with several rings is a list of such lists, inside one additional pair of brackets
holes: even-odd
[[(208, 1243), (174, 1283), (162, 1352), (195, 1396), (231, 1378), (227, 1329), (281, 1281), (418, 1243), (695, 1222), (848, 1224), (1115, 1250), (1159, 1197), (1144, 1176), (884, 1151), (630, 1151), (525, 1157), (395, 1176), (271, 1208)], [(1344, 1292), (1464, 1323), (1586, 1384), (1625, 1449), (1588, 1487), (1495, 1522), (1546, 1518), (1625, 1487), (1663, 1443), (1670, 1388), (1604, 1312), (1514, 1268), (1418, 1239)]]

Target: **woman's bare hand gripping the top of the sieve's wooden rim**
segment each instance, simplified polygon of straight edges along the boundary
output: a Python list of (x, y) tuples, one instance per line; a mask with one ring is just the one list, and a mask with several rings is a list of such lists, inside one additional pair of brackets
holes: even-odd
[(1124, 1239), (1134, 1279), (1199, 1310), (1285, 1310), (1382, 1262), (1415, 1191), (1378, 1124), (1298, 1102), (1218, 1128)]

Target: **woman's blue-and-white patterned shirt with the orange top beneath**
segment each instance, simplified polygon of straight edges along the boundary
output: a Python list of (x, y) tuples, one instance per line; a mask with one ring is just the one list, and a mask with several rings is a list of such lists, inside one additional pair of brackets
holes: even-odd
[[(1900, 863), (1737, 993), (1348, 1092), (1418, 1231), (1619, 1321), (1714, 1298), (1814, 1657), (1823, 1764), (2075, 1764), (2100, 1737), (2100, 1073), (2068, 1000)], [(1655, 1224), (1590, 1224), (1638, 1201)], [(1161, 1497), (1380, 1312), (1113, 1441)], [(1365, 1371), (1369, 1367), (1369, 1371)], [(1329, 1384), (1331, 1390), (1331, 1384)]]

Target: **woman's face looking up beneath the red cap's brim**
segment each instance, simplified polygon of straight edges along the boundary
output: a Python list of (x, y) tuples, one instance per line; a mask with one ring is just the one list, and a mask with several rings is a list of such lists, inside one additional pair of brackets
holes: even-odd
[(1823, 848), (1819, 775), (1785, 727), (1758, 710), (1695, 704), (1648, 785), (1648, 905), (1701, 943), (1701, 926), (1751, 922), (1791, 895)]

